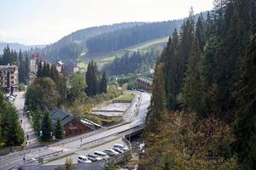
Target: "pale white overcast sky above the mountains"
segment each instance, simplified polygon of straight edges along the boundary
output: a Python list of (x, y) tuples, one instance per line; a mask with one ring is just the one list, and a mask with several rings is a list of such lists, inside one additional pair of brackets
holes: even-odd
[(0, 0), (0, 41), (49, 44), (90, 26), (181, 19), (213, 0)]

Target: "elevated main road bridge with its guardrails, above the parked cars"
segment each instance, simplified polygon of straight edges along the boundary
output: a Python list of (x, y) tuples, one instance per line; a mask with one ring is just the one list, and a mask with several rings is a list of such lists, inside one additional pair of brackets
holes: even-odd
[[(122, 123), (113, 127), (102, 128), (91, 133), (85, 133), (70, 139), (63, 139), (58, 143), (49, 144), (44, 147), (37, 147), (30, 150), (22, 150), (11, 153), (8, 156), (0, 157), (0, 169), (13, 169), (25, 164), (38, 164), (39, 158), (50, 161), (56, 157), (73, 154), (77, 150), (84, 150), (89, 146), (106, 143), (113, 139), (121, 138), (125, 135), (142, 131), (145, 122), (151, 94), (142, 93), (137, 105), (136, 114), (131, 122)], [(134, 108), (134, 107), (131, 107)], [(134, 111), (134, 110), (132, 110)], [(59, 150), (51, 150), (51, 148)], [(25, 157), (25, 161), (23, 161)]]

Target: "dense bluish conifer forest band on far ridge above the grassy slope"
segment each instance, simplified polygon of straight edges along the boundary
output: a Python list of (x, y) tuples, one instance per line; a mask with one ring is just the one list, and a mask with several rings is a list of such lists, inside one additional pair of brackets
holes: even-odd
[[(204, 13), (203, 15), (206, 15)], [(195, 19), (198, 18), (198, 14)], [(87, 42), (89, 53), (108, 53), (140, 42), (166, 37), (183, 24), (183, 20), (144, 23), (141, 26), (121, 29), (92, 37)]]

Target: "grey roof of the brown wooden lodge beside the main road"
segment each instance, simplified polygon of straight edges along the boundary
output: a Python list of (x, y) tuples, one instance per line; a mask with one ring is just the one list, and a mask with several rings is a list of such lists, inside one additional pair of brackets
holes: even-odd
[(50, 116), (54, 120), (54, 122), (57, 122), (57, 120), (60, 119), (62, 126), (66, 125), (68, 122), (70, 122), (70, 121), (75, 119), (78, 122), (82, 123), (84, 126), (90, 127), (91, 129), (96, 129), (96, 128), (100, 127), (99, 125), (97, 125), (94, 122), (90, 122), (90, 121), (88, 121), (86, 119), (85, 120), (84, 119), (81, 120), (81, 119), (79, 119), (79, 117), (74, 116), (73, 114), (68, 113), (65, 110), (58, 109), (58, 108), (54, 108), (51, 111)]

